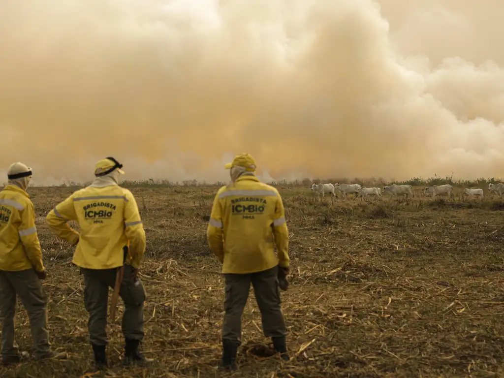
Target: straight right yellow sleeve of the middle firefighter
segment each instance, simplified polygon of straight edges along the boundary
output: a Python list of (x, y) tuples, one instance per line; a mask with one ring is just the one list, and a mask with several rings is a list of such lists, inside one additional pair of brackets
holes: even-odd
[(124, 234), (130, 242), (130, 264), (138, 269), (145, 255), (145, 230), (135, 197), (127, 191), (126, 198), (128, 201), (124, 206)]

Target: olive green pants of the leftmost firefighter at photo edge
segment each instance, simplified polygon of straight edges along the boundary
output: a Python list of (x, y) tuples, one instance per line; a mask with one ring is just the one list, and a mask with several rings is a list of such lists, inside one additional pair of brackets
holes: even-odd
[(18, 272), (0, 271), (0, 317), (2, 319), (2, 357), (19, 355), (14, 340), (16, 295), (28, 312), (35, 358), (49, 353), (47, 331), (47, 296), (33, 269)]

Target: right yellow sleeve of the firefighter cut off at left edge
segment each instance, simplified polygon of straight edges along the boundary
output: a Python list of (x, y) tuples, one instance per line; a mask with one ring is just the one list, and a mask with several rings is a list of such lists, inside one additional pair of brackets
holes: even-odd
[(44, 264), (42, 263), (42, 248), (38, 239), (37, 228), (35, 227), (35, 209), (30, 203), (21, 213), (21, 225), (18, 232), (21, 242), (23, 243), (26, 256), (32, 267), (37, 272), (42, 272)]

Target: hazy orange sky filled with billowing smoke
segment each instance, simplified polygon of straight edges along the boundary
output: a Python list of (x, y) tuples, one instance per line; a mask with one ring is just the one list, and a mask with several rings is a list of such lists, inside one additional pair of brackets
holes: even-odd
[(501, 0), (2, 0), (0, 174), (504, 176)]

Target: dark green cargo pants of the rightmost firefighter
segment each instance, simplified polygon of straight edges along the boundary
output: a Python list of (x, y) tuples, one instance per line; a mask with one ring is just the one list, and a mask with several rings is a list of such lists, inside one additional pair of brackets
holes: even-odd
[(278, 286), (278, 266), (249, 274), (224, 274), (226, 281), (222, 340), (241, 345), (241, 316), (248, 299), (250, 283), (261, 311), (263, 332), (266, 337), (283, 337), (287, 334), (281, 308)]

